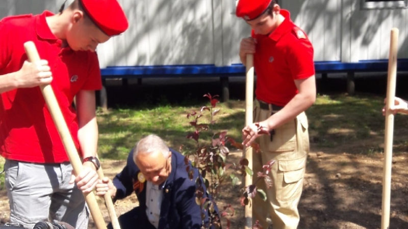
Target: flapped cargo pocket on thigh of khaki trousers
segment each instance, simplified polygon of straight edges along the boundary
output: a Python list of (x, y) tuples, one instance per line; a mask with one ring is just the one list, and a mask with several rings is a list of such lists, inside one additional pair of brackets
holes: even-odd
[[(302, 192), (303, 175), (305, 171), (307, 157), (301, 157), (294, 160), (278, 161), (276, 198), (278, 201), (290, 201), (300, 196)], [(281, 190), (279, 191), (279, 188)]]

